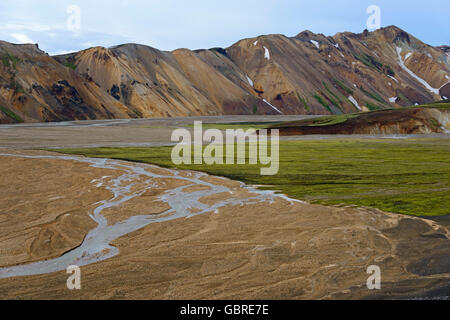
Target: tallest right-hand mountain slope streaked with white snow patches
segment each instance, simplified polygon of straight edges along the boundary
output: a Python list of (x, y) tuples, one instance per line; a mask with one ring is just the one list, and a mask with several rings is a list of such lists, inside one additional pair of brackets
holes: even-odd
[(396, 27), (334, 37), (309, 31), (294, 38), (264, 36), (227, 51), (253, 76), (255, 88), (286, 113), (302, 112), (302, 104), (312, 113), (348, 113), (426, 103), (439, 100), (434, 88), (450, 80), (448, 55)]

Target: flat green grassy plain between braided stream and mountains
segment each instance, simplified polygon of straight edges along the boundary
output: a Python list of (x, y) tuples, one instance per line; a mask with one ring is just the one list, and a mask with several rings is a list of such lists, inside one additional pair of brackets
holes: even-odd
[[(175, 167), (170, 147), (56, 151)], [(367, 206), (417, 216), (450, 213), (449, 139), (282, 141), (276, 176), (261, 176), (259, 165), (177, 168), (267, 185), (265, 189), (313, 203)]]

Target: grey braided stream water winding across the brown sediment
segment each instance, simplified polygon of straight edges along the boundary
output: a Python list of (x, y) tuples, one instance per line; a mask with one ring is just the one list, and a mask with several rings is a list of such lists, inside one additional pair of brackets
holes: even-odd
[[(80, 247), (75, 248), (55, 259), (14, 267), (0, 268), (0, 279), (47, 274), (66, 270), (67, 267), (71, 265), (81, 267), (112, 258), (119, 254), (119, 250), (111, 246), (111, 242), (152, 223), (161, 223), (179, 218), (189, 218), (209, 212), (218, 212), (220, 208), (228, 205), (245, 205), (263, 201), (274, 201), (276, 198), (283, 198), (291, 203), (296, 201), (289, 199), (284, 195), (277, 195), (273, 191), (261, 191), (242, 185), (243, 187), (249, 189), (252, 194), (248, 198), (241, 199), (230, 197), (229, 199), (219, 201), (213, 205), (207, 205), (200, 202), (200, 199), (224, 192), (231, 193), (231, 189), (224, 185), (215, 185), (202, 180), (202, 177), (207, 176), (203, 173), (192, 172), (190, 177), (185, 177), (180, 175), (176, 170), (165, 169), (169, 173), (168, 175), (155, 174), (152, 173), (152, 169), (158, 167), (151, 165), (127, 163), (109, 159), (82, 158), (76, 156), (31, 156), (18, 154), (0, 155), (29, 159), (79, 161), (89, 163), (94, 168), (112, 169), (121, 173), (117, 178), (111, 179), (108, 184), (104, 186), (106, 189), (111, 191), (114, 196), (112, 199), (99, 202), (98, 206), (90, 214), (91, 218), (98, 225), (87, 234)], [(134, 190), (133, 187), (136, 187), (139, 178), (139, 187), (135, 188), (137, 190)], [(142, 183), (142, 178), (144, 178), (144, 183)], [(136, 216), (114, 225), (108, 225), (106, 218), (102, 215), (103, 210), (119, 206), (124, 202), (141, 196), (151, 188), (158, 187), (158, 182), (156, 181), (157, 179), (182, 180), (189, 182), (189, 184), (167, 190), (160, 196), (159, 200), (170, 206), (171, 209), (168, 211), (159, 215), (139, 215), (137, 212)], [(98, 184), (97, 186), (101, 187), (102, 184)], [(209, 189), (195, 192), (185, 192), (187, 188), (192, 186), (207, 186)]]

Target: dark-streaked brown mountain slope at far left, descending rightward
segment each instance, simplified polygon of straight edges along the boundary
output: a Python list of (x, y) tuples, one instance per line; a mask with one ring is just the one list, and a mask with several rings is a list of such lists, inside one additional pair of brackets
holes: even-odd
[[(35, 45), (0, 42), (0, 122), (130, 117), (127, 107)], [(12, 116), (14, 115), (14, 116)]]

